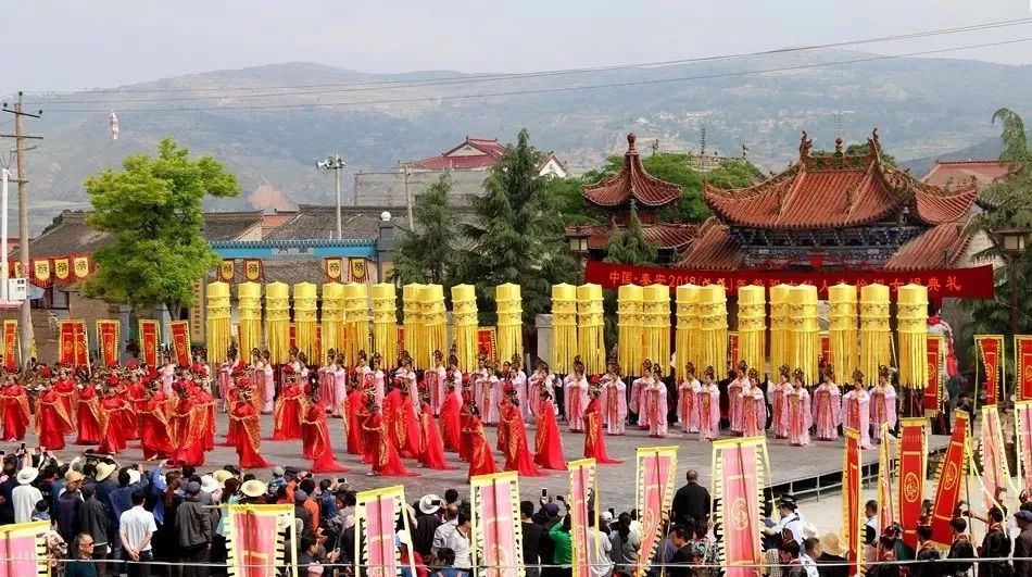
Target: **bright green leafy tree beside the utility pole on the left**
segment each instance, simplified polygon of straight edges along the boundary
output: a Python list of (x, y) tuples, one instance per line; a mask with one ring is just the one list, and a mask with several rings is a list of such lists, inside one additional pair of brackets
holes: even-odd
[(87, 224), (112, 243), (93, 254), (98, 269), (84, 293), (133, 310), (164, 304), (181, 317), (193, 304), (191, 284), (218, 264), (201, 234), (201, 201), (236, 196), (236, 177), (212, 156), (191, 159), (165, 138), (156, 156), (126, 156), (121, 171), (101, 171), (85, 187), (93, 205)]

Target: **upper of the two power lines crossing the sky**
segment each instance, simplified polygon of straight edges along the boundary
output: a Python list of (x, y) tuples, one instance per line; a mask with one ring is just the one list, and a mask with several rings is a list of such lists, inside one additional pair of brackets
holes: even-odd
[(483, 83), (483, 81), (540, 78), (540, 77), (548, 77), (548, 76), (612, 72), (612, 71), (619, 71), (619, 70), (627, 70), (627, 68), (669, 66), (669, 65), (676, 65), (676, 64), (691, 64), (691, 63), (730, 60), (730, 59), (737, 59), (737, 58), (785, 54), (785, 53), (803, 52), (803, 51), (811, 51), (811, 50), (842, 48), (842, 47), (847, 47), (847, 46), (859, 46), (859, 45), (879, 43), (879, 42), (906, 40), (906, 39), (915, 39), (915, 38), (927, 38), (927, 37), (932, 37), (932, 36), (961, 34), (961, 33), (968, 33), (968, 32), (980, 32), (980, 30), (997, 29), (997, 28), (1005, 28), (1005, 27), (1011, 27), (1011, 26), (1021, 26), (1025, 24), (1032, 24), (1032, 17), (990, 22), (990, 23), (983, 23), (983, 24), (972, 24), (972, 25), (958, 26), (958, 27), (953, 27), (953, 28), (919, 30), (919, 32), (914, 32), (914, 33), (897, 34), (897, 35), (891, 35), (891, 36), (880, 36), (880, 37), (873, 37), (873, 38), (845, 40), (845, 41), (840, 41), (840, 42), (827, 42), (827, 43), (808, 45), (808, 46), (801, 46), (801, 47), (762, 50), (762, 51), (755, 51), (755, 52), (740, 52), (740, 53), (732, 53), (732, 54), (696, 57), (696, 58), (664, 60), (664, 61), (655, 61), (655, 62), (642, 62), (642, 63), (634, 63), (634, 64), (616, 64), (616, 65), (608, 65), (608, 66), (594, 66), (594, 67), (580, 67), (580, 68), (561, 68), (561, 70), (552, 70), (552, 71), (530, 72), (530, 73), (473, 74), (473, 75), (463, 75), (463, 76), (446, 76), (446, 77), (440, 77), (440, 78), (408, 78), (408, 79), (376, 80), (376, 81), (362, 81), (362, 83), (329, 83), (329, 84), (266, 86), (266, 87), (251, 86), (251, 87), (222, 87), (222, 88), (198, 87), (198, 88), (153, 88), (153, 89), (112, 88), (112, 89), (103, 89), (103, 90), (46, 91), (46, 93), (84, 95), (84, 96), (103, 95), (103, 93), (164, 93), (164, 92), (223, 92), (225, 93), (225, 92), (235, 92), (235, 91), (243, 91), (243, 90), (252, 91), (252, 90), (288, 90), (288, 89), (326, 88), (325, 90), (303, 90), (303, 91), (297, 91), (297, 92), (264, 92), (264, 93), (256, 93), (256, 95), (249, 93), (249, 95), (239, 95), (239, 96), (216, 95), (216, 96), (189, 96), (189, 97), (173, 97), (173, 98), (162, 97), (162, 98), (141, 98), (141, 99), (63, 100), (63, 101), (53, 101), (53, 102), (48, 101), (47, 102), (48, 104), (98, 104), (98, 103), (121, 103), (121, 102), (213, 100), (213, 99), (222, 99), (222, 98), (249, 98), (249, 99), (250, 98), (276, 98), (276, 97), (285, 97), (285, 96), (305, 96), (305, 95), (319, 95), (319, 93), (332, 93), (332, 92), (385, 90), (385, 89), (411, 88), (411, 87), (423, 87), (423, 86), (474, 84), (474, 83)]

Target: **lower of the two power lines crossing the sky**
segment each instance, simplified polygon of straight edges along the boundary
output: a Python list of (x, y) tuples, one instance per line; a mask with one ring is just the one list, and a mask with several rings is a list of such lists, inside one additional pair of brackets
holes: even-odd
[[(681, 83), (681, 81), (689, 81), (689, 80), (730, 78), (730, 77), (739, 77), (739, 76), (750, 76), (754, 74), (769, 74), (769, 73), (777, 73), (777, 72), (811, 70), (811, 68), (820, 68), (825, 66), (861, 64), (866, 62), (878, 62), (878, 61), (894, 60), (894, 59), (899, 59), (899, 58), (922, 57), (922, 55), (929, 55), (929, 54), (940, 54), (944, 52), (955, 52), (958, 50), (972, 50), (972, 49), (978, 49), (978, 48), (1007, 46), (1007, 45), (1014, 45), (1014, 43), (1019, 43), (1019, 42), (1028, 42), (1030, 40), (1032, 40), (1032, 37), (1002, 40), (997, 42), (984, 42), (984, 43), (978, 43), (978, 45), (958, 46), (958, 47), (952, 47), (952, 48), (940, 48), (935, 50), (921, 50), (921, 51), (916, 51), (916, 52), (906, 52), (902, 54), (878, 54), (878, 55), (851, 59), (851, 60), (833, 61), (833, 62), (816, 62), (811, 64), (795, 64), (791, 66), (777, 66), (777, 67), (757, 68), (757, 70), (751, 70), (751, 71), (725, 72), (725, 73), (703, 74), (703, 75), (695, 75), (695, 76), (680, 76), (680, 77), (674, 77), (674, 78), (656, 78), (656, 79), (650, 79), (650, 80), (628, 80), (628, 81), (621, 81), (621, 83), (605, 83), (605, 84), (583, 85), (583, 86), (564, 86), (564, 87), (556, 87), (556, 88), (507, 90), (507, 91), (500, 91), (500, 92), (450, 95), (450, 96), (437, 96), (437, 97), (358, 100), (358, 101), (347, 101), (347, 102), (306, 102), (306, 103), (294, 103), (294, 104), (241, 104), (241, 105), (230, 105), (230, 106), (127, 109), (124, 111), (124, 113), (131, 114), (131, 113), (138, 113), (138, 112), (213, 112), (213, 111), (232, 111), (232, 110), (290, 110), (290, 109), (314, 109), (314, 108), (338, 108), (338, 106), (343, 108), (343, 106), (357, 106), (357, 105), (399, 104), (399, 103), (406, 103), (406, 102), (440, 102), (440, 101), (446, 101), (446, 100), (470, 100), (470, 99), (493, 98), (493, 97), (571, 92), (571, 91), (578, 91), (578, 90), (596, 90), (596, 89), (603, 89), (603, 88), (624, 88), (624, 87), (630, 87), (630, 86), (671, 84), (671, 83)], [(56, 102), (54, 102), (53, 104), (55, 103)], [(108, 109), (60, 109), (58, 108), (58, 109), (51, 109), (51, 112), (95, 113), (95, 112), (108, 112)]]

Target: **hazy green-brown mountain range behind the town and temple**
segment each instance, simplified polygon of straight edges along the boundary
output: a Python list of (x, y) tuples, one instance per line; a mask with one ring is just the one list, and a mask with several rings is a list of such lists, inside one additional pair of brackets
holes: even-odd
[(1000, 106), (1032, 109), (1032, 70), (842, 50), (490, 78), (282, 63), (25, 98), (26, 110), (43, 110), (25, 127), (45, 137), (28, 153), (36, 234), (61, 210), (88, 206), (88, 175), (152, 152), (163, 136), (237, 174), (243, 193), (210, 210), (332, 202), (332, 175), (315, 161), (335, 152), (348, 162), (347, 201), (356, 171), (432, 156), (467, 135), (509, 142), (523, 127), (575, 173), (622, 152), (628, 131), (659, 150), (699, 151), (705, 130), (708, 151), (740, 155), (744, 145), (778, 170), (797, 155), (801, 130), (831, 149), (836, 135), (863, 142), (878, 127), (884, 149), (923, 174), (935, 158), (995, 158), (990, 118)]

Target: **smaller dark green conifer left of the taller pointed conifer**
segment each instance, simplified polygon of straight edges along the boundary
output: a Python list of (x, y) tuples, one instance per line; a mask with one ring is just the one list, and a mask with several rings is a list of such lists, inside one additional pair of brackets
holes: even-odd
[(394, 248), (394, 275), (402, 283), (444, 285), (445, 290), (453, 285), (458, 233), (448, 200), (451, 190), (451, 177), (441, 175), (413, 205), (415, 223), (408, 223), (411, 230), (402, 233)]

